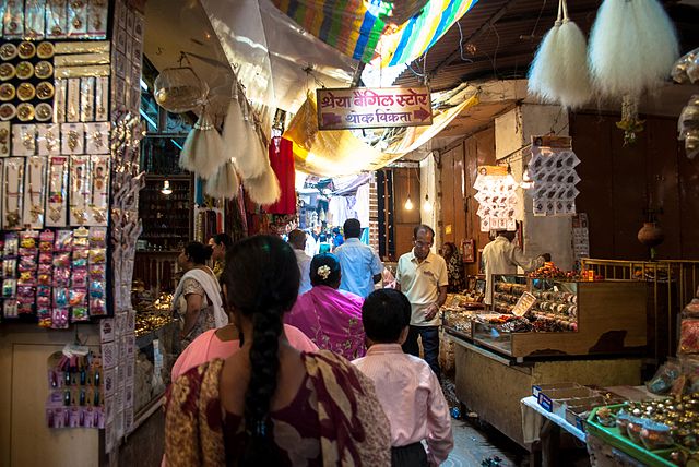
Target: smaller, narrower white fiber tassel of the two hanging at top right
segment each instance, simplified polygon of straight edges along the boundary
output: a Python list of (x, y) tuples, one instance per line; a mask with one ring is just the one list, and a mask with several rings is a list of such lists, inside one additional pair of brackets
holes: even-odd
[(562, 0), (564, 21), (556, 39), (560, 43), (558, 67), (562, 70), (562, 80), (558, 82), (558, 101), (561, 106), (576, 109), (590, 100), (592, 84), (588, 69), (588, 44), (580, 27), (568, 17), (568, 4)]

